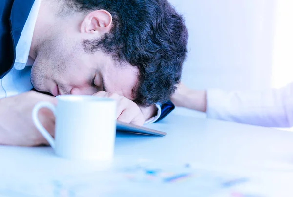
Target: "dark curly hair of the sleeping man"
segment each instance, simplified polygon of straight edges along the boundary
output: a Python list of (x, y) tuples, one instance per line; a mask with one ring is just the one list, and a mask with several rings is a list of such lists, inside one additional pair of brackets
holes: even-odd
[(180, 82), (187, 54), (185, 20), (167, 0), (65, 0), (79, 12), (107, 10), (113, 27), (102, 39), (84, 40), (87, 52), (102, 50), (138, 67), (134, 102), (164, 103)]

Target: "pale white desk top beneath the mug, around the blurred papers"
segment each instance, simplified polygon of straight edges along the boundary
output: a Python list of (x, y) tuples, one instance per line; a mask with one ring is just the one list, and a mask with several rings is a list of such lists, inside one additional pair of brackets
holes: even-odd
[[(293, 133), (176, 114), (148, 127), (166, 131), (167, 136), (117, 133), (112, 165), (58, 158), (50, 147), (0, 146), (0, 196), (84, 196), (62, 191), (62, 184), (65, 184), (62, 180), (82, 181), (75, 189), (86, 188), (87, 184), (97, 181), (90, 177), (92, 175), (108, 181), (107, 185), (110, 184), (112, 190), (121, 186), (116, 193), (111, 192), (99, 180), (95, 183), (103, 188), (103, 192), (96, 195), (99, 197), (197, 196), (194, 191), (188, 191), (192, 188), (192, 183), (188, 186), (188, 181), (178, 183), (178, 187), (173, 184), (157, 188), (154, 186), (156, 184), (127, 182), (121, 177), (117, 178), (118, 182), (111, 182), (111, 179), (116, 179), (117, 169), (133, 167), (141, 162), (172, 166), (188, 164), (196, 169), (245, 176), (259, 184), (259, 191), (253, 191), (259, 192), (259, 197), (293, 196)], [(119, 181), (122, 181), (121, 184)], [(128, 189), (124, 185), (126, 183)], [(204, 197), (200, 195), (204, 193), (198, 194)], [(240, 197), (237, 195), (234, 193), (229, 197)]]

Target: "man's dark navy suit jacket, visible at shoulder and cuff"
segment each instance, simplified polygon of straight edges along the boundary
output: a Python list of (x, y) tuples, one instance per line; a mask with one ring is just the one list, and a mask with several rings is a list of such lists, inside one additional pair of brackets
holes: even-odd
[[(0, 79), (13, 67), (15, 48), (35, 0), (0, 0)], [(174, 109), (171, 102), (162, 105), (162, 115)], [(159, 121), (158, 120), (158, 121)]]

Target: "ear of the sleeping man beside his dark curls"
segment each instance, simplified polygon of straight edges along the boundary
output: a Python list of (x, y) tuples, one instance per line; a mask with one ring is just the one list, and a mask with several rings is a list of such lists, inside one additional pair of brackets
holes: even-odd
[(84, 17), (81, 24), (82, 33), (102, 36), (112, 28), (112, 15), (106, 10), (96, 10)]

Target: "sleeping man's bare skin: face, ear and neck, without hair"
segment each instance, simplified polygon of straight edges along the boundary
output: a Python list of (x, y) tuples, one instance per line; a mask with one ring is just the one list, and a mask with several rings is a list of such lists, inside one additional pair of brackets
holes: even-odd
[(41, 5), (30, 51), (35, 59), (31, 72), (33, 86), (55, 96), (91, 95), (104, 90), (133, 100), (137, 67), (118, 63), (101, 50), (84, 50), (83, 40), (98, 39), (110, 31), (111, 14), (97, 10), (58, 17), (47, 6)]

